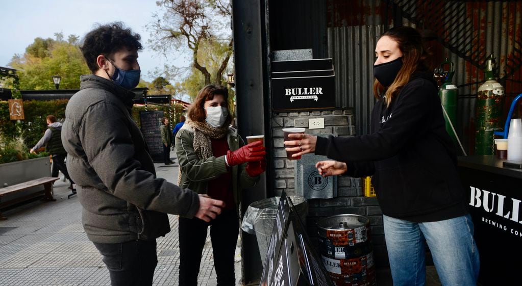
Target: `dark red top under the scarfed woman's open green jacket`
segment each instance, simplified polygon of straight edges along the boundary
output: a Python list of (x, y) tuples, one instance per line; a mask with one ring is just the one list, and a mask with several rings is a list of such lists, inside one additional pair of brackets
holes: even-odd
[[(215, 157), (221, 157), (227, 154), (229, 150), (227, 137), (221, 139), (210, 139), (212, 142), (212, 153)], [(220, 175), (214, 180), (208, 181), (207, 194), (213, 199), (219, 199), (225, 202), (224, 209), (234, 209), (234, 194), (232, 193), (232, 172)]]

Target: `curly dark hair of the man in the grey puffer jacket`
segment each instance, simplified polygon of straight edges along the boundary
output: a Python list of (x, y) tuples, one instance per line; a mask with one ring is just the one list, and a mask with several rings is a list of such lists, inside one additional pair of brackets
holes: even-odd
[(122, 22), (114, 22), (99, 25), (98, 28), (87, 33), (80, 50), (84, 54), (87, 66), (94, 74), (99, 69), (96, 63), (99, 55), (109, 56), (122, 47), (143, 50), (140, 39), (139, 34), (134, 34), (130, 28), (125, 29)]

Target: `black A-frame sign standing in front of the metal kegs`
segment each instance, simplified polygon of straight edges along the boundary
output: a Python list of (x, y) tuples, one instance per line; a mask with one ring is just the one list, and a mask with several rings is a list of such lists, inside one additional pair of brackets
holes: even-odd
[(291, 200), (282, 193), (260, 286), (334, 286)]

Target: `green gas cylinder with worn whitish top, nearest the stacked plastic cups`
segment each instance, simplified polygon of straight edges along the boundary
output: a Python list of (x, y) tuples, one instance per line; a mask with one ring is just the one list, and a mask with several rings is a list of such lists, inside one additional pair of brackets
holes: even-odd
[(502, 130), (504, 87), (496, 81), (496, 62), (493, 54), (486, 59), (485, 82), (479, 87), (475, 116), (475, 154), (494, 154), (493, 132)]

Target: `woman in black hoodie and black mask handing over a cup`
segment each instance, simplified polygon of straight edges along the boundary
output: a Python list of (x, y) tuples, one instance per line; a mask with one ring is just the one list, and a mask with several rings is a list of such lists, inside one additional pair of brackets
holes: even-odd
[(443, 285), (476, 285), (479, 255), (419, 32), (390, 29), (375, 49), (371, 133), (350, 138), (290, 135), (287, 151), (326, 155), (323, 176), (373, 175), (394, 285), (424, 285), (424, 241)]

